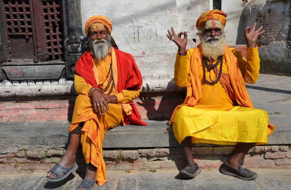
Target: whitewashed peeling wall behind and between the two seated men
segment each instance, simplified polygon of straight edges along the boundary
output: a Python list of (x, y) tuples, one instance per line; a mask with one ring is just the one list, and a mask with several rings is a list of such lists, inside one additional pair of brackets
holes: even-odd
[[(173, 74), (177, 46), (170, 41), (167, 29), (186, 31), (187, 48), (200, 42), (196, 20), (212, 9), (212, 1), (81, 1), (83, 28), (93, 15), (106, 16), (113, 25), (112, 37), (120, 50), (134, 56), (142, 75)], [(196, 43), (193, 42), (196, 39)]]

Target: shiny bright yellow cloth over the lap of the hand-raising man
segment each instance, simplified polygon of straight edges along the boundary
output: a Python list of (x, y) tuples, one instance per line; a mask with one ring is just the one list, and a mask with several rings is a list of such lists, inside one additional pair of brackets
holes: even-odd
[(267, 112), (261, 109), (236, 106), (216, 111), (183, 106), (176, 115), (173, 131), (180, 144), (191, 136), (192, 143), (259, 145), (267, 143), (268, 122)]

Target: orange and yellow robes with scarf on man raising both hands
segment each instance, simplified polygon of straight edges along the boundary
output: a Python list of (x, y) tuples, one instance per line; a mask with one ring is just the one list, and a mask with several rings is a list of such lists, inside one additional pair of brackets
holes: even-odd
[[(188, 50), (185, 56), (177, 54), (174, 81), (179, 87), (187, 86), (187, 97), (174, 110), (170, 120), (178, 142), (191, 136), (193, 143), (267, 143), (267, 135), (273, 132), (274, 126), (268, 125), (265, 111), (253, 108), (244, 84), (257, 81), (259, 63), (257, 47), (247, 48), (247, 59), (238, 50), (225, 47), (222, 73), (228, 82), (221, 79), (209, 85), (201, 82), (200, 45)], [(216, 74), (210, 72), (215, 78)], [(206, 72), (206, 79), (210, 81), (209, 72)], [(223, 86), (226, 83), (228, 89)]]

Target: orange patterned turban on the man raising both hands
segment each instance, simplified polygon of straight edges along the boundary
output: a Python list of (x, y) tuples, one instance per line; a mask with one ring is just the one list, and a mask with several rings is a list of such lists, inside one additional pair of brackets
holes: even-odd
[(198, 18), (198, 20), (196, 22), (196, 28), (199, 29), (200, 27), (202, 27), (204, 25), (204, 23), (207, 20), (211, 20), (211, 19), (219, 20), (223, 24), (223, 26), (225, 26), (226, 17), (227, 17), (227, 15), (225, 13), (223, 13), (223, 11), (219, 11), (219, 10), (206, 11), (205, 13), (200, 15), (200, 17)]

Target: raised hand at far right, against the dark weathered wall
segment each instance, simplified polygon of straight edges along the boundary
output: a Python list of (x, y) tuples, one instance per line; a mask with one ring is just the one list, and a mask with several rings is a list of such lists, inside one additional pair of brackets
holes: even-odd
[(265, 30), (260, 32), (260, 30), (263, 28), (262, 26), (260, 26), (257, 30), (255, 30), (256, 24), (257, 23), (255, 22), (252, 29), (251, 29), (251, 27), (248, 26), (244, 30), (244, 37), (246, 39), (246, 46), (248, 48), (254, 48), (256, 46), (256, 41), (258, 39), (258, 36), (262, 35), (265, 32)]

